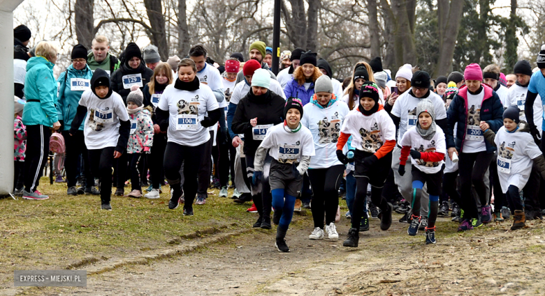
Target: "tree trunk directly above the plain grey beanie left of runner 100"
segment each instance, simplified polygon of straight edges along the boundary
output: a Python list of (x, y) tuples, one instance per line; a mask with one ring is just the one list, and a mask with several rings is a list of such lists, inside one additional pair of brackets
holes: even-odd
[(168, 59), (168, 45), (166, 43), (165, 18), (163, 17), (163, 5), (161, 0), (144, 0), (147, 17), (150, 20), (152, 31), (150, 40), (159, 49), (161, 60)]

